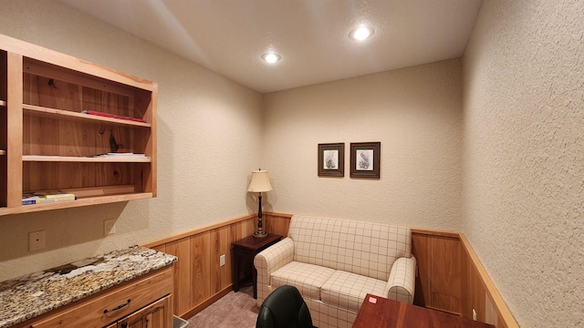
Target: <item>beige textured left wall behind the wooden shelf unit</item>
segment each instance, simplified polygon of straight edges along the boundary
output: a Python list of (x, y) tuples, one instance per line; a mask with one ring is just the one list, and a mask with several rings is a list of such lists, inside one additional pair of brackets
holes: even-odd
[[(3, 0), (0, 33), (159, 83), (159, 197), (0, 217), (0, 281), (254, 210), (260, 94), (57, 1)], [(117, 233), (104, 238), (110, 218)], [(47, 249), (28, 252), (39, 230)]]

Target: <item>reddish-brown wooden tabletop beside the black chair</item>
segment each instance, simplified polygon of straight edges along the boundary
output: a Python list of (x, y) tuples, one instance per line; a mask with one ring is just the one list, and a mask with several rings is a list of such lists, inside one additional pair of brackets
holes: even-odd
[(495, 328), (452, 313), (367, 294), (353, 328)]

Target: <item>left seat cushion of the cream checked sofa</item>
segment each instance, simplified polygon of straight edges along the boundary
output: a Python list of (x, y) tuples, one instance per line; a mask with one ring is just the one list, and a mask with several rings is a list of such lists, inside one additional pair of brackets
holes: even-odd
[(322, 266), (291, 261), (273, 272), (270, 281), (273, 288), (295, 286), (304, 297), (320, 299), (320, 287), (335, 271)]

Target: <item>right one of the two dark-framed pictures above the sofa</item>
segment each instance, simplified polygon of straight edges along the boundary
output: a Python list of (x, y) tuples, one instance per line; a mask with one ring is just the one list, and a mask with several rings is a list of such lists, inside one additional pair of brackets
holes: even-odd
[(350, 178), (380, 179), (381, 142), (350, 143)]

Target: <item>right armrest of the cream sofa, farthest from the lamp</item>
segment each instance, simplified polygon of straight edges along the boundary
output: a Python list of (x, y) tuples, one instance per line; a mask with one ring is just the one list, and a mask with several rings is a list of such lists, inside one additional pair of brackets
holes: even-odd
[(391, 266), (390, 279), (385, 286), (387, 298), (412, 304), (416, 287), (416, 259), (401, 257)]

